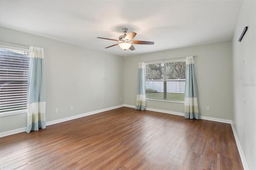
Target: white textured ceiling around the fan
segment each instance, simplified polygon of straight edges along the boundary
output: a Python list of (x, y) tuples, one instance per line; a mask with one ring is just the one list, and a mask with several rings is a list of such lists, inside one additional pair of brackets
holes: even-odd
[(122, 28), (136, 32), (136, 55), (231, 40), (242, 1), (160, 0), (6, 0), (0, 1), (3, 27), (124, 56), (118, 45)]

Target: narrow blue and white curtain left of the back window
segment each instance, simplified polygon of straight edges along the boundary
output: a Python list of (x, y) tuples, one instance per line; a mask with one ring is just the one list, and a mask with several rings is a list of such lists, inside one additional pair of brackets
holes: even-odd
[(138, 91), (136, 99), (136, 110), (144, 111), (146, 109), (145, 94), (145, 63), (139, 63)]

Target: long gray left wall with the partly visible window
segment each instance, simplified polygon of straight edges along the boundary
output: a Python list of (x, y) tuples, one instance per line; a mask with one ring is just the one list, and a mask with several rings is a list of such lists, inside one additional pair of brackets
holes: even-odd
[[(123, 57), (3, 27), (0, 37), (45, 48), (47, 122), (124, 104)], [(26, 117), (0, 117), (0, 132), (26, 127)]]

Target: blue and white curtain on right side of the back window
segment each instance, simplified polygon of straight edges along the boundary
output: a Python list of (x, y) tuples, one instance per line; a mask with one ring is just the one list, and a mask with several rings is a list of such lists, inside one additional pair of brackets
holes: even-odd
[(199, 119), (195, 66), (193, 57), (186, 57), (185, 118)]

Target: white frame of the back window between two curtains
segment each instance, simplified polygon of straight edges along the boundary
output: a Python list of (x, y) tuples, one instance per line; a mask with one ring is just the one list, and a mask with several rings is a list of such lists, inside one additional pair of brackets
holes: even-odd
[[(145, 95), (146, 95), (146, 82), (148, 81), (148, 80), (146, 80), (146, 67), (147, 67), (147, 65), (162, 64), (162, 63), (176, 63), (176, 62), (185, 62), (186, 63), (186, 58), (185, 59), (168, 59), (168, 60), (162, 60), (162, 61), (145, 62)], [(185, 76), (186, 76), (186, 68), (185, 68)], [(159, 81), (164, 82), (164, 80), (159, 80)], [(168, 81), (166, 81), (166, 83), (170, 82), (170, 81), (184, 81), (184, 83), (186, 83), (186, 78), (185, 79), (169, 79)], [(185, 86), (185, 84), (184, 84), (184, 86)], [(165, 101), (165, 102), (173, 102), (173, 103), (185, 103), (185, 101), (176, 101), (176, 100), (167, 100), (167, 99), (152, 99), (152, 98), (148, 98), (147, 95), (146, 95), (146, 100)]]

